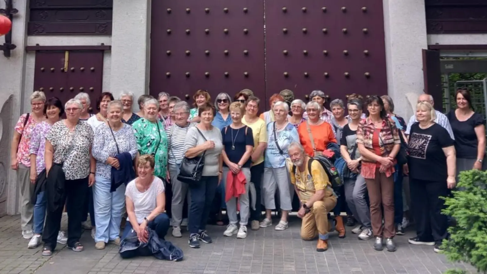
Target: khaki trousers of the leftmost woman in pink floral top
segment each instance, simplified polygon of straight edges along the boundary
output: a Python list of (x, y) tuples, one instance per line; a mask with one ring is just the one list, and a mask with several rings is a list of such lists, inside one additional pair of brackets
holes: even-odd
[(31, 203), (31, 196), (34, 192), (34, 184), (30, 182), (30, 167), (19, 164), (17, 180), (20, 186), (20, 226), (22, 231), (32, 230), (34, 220), (34, 205)]

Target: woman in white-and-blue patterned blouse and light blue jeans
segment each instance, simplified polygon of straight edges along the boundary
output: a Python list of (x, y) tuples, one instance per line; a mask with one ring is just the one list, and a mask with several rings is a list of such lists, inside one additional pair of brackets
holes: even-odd
[(125, 185), (111, 191), (112, 167), (120, 168), (115, 156), (129, 152), (131, 160), (137, 154), (133, 129), (123, 124), (123, 105), (120, 101), (108, 104), (108, 123), (101, 124), (94, 132), (93, 157), (96, 160), (93, 189), (94, 214), (97, 220), (94, 241), (96, 249), (104, 249), (109, 241), (120, 244), (120, 222), (125, 206)]

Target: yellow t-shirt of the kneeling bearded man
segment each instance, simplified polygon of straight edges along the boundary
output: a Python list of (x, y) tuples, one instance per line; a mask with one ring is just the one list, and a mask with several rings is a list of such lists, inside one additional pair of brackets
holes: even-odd
[(321, 189), (326, 189), (325, 198), (333, 195), (330, 179), (328, 179), (328, 175), (326, 175), (323, 166), (318, 161), (313, 161), (311, 164), (311, 175), (308, 172), (307, 162), (304, 163), (304, 172), (300, 172), (300, 169), (296, 167), (295, 173), (293, 173), (293, 163), (290, 159), (286, 160), (286, 164), (290, 173), (291, 183), (296, 185), (301, 202), (308, 201), (317, 190)]

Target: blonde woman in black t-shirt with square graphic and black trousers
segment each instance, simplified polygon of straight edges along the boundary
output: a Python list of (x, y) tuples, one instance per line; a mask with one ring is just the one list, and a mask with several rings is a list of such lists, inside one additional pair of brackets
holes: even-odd
[(455, 187), (455, 147), (448, 131), (434, 123), (436, 113), (430, 103), (416, 105), (416, 119), (409, 136), (408, 164), (404, 165), (410, 178), (417, 233), (409, 243), (434, 245), (434, 251), (439, 252), (448, 227), (440, 197), (448, 196), (448, 189)]

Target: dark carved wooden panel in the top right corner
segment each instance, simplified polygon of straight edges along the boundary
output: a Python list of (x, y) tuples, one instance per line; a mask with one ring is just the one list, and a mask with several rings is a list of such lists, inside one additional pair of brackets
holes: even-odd
[(429, 34), (487, 33), (487, 1), (426, 0)]

